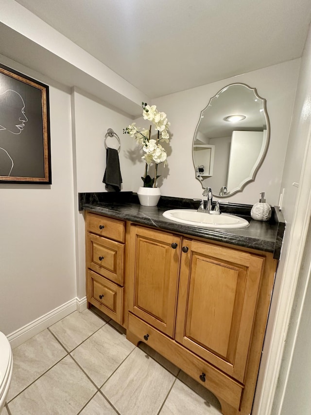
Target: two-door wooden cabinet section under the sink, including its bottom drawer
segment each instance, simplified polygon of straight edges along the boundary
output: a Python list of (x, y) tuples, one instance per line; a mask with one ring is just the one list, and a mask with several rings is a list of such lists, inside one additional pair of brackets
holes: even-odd
[(132, 225), (127, 337), (251, 412), (276, 270), (257, 253)]

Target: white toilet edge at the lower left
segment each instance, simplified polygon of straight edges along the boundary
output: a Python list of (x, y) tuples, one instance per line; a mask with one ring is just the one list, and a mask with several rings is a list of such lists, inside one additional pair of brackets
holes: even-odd
[(9, 391), (12, 371), (12, 349), (6, 336), (0, 331), (0, 414)]

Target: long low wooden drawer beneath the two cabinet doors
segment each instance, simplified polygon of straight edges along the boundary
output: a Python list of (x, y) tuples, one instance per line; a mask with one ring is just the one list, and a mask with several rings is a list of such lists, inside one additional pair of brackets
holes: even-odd
[[(239, 409), (243, 391), (243, 386), (240, 383), (229, 378), (131, 313), (128, 315), (128, 331), (174, 363), (191, 378), (197, 380), (217, 397), (224, 399), (233, 408)], [(200, 379), (200, 375), (203, 373), (205, 374), (205, 382)]]

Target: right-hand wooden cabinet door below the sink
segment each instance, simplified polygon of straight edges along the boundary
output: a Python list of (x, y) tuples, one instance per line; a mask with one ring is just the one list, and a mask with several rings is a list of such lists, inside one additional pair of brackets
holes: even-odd
[(176, 341), (243, 381), (264, 258), (183, 240)]

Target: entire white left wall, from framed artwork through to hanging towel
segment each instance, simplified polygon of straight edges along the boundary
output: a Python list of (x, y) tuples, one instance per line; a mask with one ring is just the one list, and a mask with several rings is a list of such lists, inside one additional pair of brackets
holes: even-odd
[[(8, 335), (86, 295), (85, 224), (78, 192), (105, 191), (108, 128), (121, 141), (122, 191), (132, 189), (128, 173), (136, 156), (133, 140), (122, 134), (132, 122), (127, 114), (4, 56), (1, 62), (50, 86), (51, 114), (52, 185), (0, 184), (0, 330)], [(117, 141), (108, 138), (107, 144), (113, 147)]]

